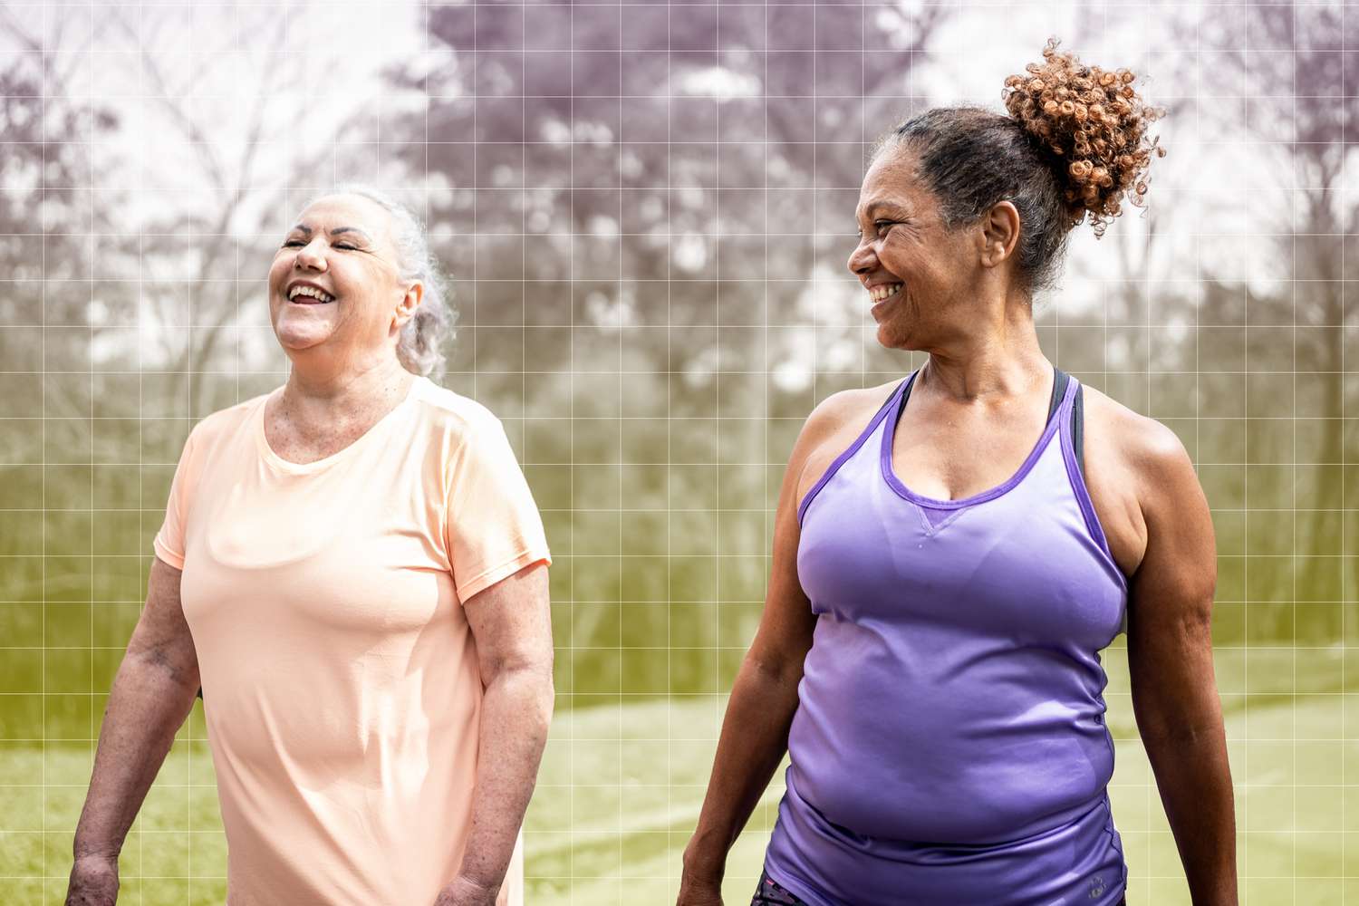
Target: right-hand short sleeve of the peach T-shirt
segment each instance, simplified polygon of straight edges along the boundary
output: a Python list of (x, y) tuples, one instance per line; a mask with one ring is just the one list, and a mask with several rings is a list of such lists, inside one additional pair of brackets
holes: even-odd
[(444, 531), (459, 600), (530, 564), (552, 562), (533, 492), (499, 420), (469, 425), (446, 469)]

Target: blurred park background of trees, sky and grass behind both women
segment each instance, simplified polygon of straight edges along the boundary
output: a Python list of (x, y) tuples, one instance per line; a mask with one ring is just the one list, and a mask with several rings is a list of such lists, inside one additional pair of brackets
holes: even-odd
[[(444, 383), (542, 508), (557, 716), (531, 903), (673, 898), (802, 420), (920, 356), (844, 269), (867, 143), (996, 107), (1049, 34), (1151, 73), (1151, 215), (1072, 239), (1048, 356), (1182, 439), (1214, 511), (1242, 901), (1359, 902), (1355, 10), (1336, 4), (24, 5), (0, 12), (0, 899), (60, 902), (190, 425), (284, 380), (262, 296), (314, 189), (428, 216)], [(1140, 84), (1140, 83), (1139, 83)], [(1186, 903), (1109, 649), (1129, 903)], [(1356, 714), (1359, 717), (1359, 714)], [(781, 774), (780, 774), (781, 777)], [(749, 898), (769, 791), (728, 867)], [(128, 903), (220, 903), (201, 710)]]

